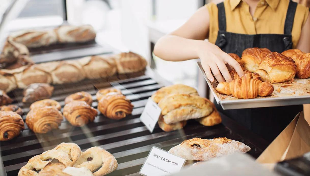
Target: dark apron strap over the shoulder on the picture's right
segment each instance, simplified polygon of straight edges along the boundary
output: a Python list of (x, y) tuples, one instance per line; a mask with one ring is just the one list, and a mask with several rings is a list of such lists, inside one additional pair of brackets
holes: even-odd
[(291, 35), (294, 23), (294, 17), (296, 12), (297, 2), (290, 0), (289, 6), (286, 12), (286, 19), (284, 24), (284, 34)]

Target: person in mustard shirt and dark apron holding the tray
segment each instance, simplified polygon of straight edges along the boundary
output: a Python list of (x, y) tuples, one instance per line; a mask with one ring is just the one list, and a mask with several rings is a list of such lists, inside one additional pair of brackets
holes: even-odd
[[(206, 38), (209, 41), (204, 41)], [(290, 0), (209, 3), (180, 28), (163, 36), (154, 54), (168, 61), (200, 58), (210, 81), (214, 81), (214, 75), (219, 82), (230, 82), (228, 67), (239, 76), (244, 73), (227, 53), (241, 56), (244, 49), (252, 47), (279, 53), (291, 48), (310, 52), (308, 8)], [(309, 111), (309, 105), (304, 107)], [(303, 110), (303, 105), (233, 110), (217, 105), (217, 109), (271, 142)]]

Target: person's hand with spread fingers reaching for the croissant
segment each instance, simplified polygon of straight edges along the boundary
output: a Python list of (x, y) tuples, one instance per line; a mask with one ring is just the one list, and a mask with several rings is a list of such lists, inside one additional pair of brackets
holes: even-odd
[(229, 66), (234, 68), (240, 77), (244, 74), (240, 64), (218, 46), (207, 41), (201, 41), (201, 45), (197, 49), (197, 55), (200, 58), (202, 68), (211, 82), (214, 81), (213, 75), (219, 83), (225, 82), (225, 80), (226, 82), (231, 82), (232, 78), (227, 68)]

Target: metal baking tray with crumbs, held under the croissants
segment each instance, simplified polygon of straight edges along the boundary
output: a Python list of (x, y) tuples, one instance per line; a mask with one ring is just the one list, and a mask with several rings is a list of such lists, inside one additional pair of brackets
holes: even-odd
[(217, 81), (210, 82), (202, 68), (201, 62), (198, 67), (206, 79), (217, 104), (223, 109), (260, 108), (271, 106), (302, 105), (310, 103), (310, 78), (294, 79), (292, 83), (275, 83), (273, 93), (268, 97), (256, 97), (253, 99), (239, 99), (229, 95), (218, 93), (215, 88)]

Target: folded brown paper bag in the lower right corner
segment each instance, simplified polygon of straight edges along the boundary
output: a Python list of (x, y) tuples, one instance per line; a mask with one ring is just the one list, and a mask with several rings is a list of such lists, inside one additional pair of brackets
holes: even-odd
[(275, 163), (299, 157), (310, 151), (310, 126), (301, 111), (256, 159), (260, 163)]

